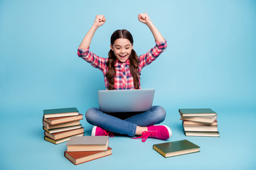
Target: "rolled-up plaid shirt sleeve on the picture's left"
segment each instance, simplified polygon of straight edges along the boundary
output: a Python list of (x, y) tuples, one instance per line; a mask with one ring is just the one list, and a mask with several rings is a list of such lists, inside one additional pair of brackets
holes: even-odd
[(92, 65), (92, 67), (100, 69), (103, 72), (107, 63), (107, 59), (95, 55), (94, 53), (90, 52), (89, 49), (90, 47), (87, 47), (85, 49), (82, 49), (79, 47), (78, 56), (81, 57), (86, 62), (89, 62)]

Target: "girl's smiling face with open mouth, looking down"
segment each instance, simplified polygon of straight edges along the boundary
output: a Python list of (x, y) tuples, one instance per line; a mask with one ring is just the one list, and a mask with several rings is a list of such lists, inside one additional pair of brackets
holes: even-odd
[(120, 62), (126, 62), (132, 52), (132, 43), (127, 38), (118, 38), (110, 45), (111, 50)]

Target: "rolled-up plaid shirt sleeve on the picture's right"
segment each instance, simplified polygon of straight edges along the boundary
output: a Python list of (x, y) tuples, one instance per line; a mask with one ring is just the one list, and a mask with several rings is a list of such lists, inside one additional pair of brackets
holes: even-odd
[(141, 68), (146, 67), (148, 64), (156, 60), (159, 55), (161, 55), (162, 52), (167, 47), (167, 42), (164, 40), (163, 42), (157, 42), (156, 45), (149, 50), (149, 52), (146, 52), (144, 55), (139, 56), (139, 65)]

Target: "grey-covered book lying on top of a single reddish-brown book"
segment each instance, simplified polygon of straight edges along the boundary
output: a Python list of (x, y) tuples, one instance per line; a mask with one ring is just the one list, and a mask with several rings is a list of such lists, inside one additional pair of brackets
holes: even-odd
[(71, 137), (68, 141), (67, 151), (102, 151), (107, 150), (109, 143), (108, 136), (83, 136), (83, 137)]

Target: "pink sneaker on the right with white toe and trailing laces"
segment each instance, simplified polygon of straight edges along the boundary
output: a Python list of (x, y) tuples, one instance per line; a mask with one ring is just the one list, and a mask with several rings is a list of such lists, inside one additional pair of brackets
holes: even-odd
[(134, 137), (134, 139), (142, 138), (142, 142), (145, 142), (148, 137), (153, 137), (159, 140), (168, 140), (171, 137), (171, 129), (166, 125), (151, 125), (148, 127), (148, 131), (142, 132), (142, 136)]

